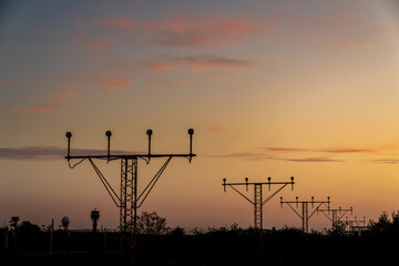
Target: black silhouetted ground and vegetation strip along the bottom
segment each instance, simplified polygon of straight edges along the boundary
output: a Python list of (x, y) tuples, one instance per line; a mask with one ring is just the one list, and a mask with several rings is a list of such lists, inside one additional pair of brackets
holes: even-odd
[[(140, 236), (137, 265), (399, 265), (399, 234), (303, 234), (286, 228)], [(0, 237), (0, 265), (125, 265), (117, 233), (54, 232)]]

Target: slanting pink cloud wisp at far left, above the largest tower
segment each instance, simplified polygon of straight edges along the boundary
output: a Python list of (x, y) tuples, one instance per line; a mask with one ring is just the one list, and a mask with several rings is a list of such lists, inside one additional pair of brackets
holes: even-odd
[(64, 104), (72, 103), (81, 100), (81, 94), (79, 93), (79, 86), (72, 85), (64, 89), (62, 92), (59, 92), (51, 96), (50, 101), (43, 104), (38, 104), (30, 108), (19, 108), (19, 109), (9, 109), (10, 112), (17, 113), (43, 113), (53, 111)]

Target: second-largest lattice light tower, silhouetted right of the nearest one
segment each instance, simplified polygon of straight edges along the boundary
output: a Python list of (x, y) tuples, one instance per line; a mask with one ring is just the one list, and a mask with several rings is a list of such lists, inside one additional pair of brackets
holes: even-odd
[[(267, 177), (267, 182), (248, 182), (248, 177), (245, 177), (245, 183), (226, 183), (226, 178), (223, 178), (223, 187), (224, 192), (226, 192), (226, 186), (232, 187), (235, 192), (237, 192), (241, 196), (243, 196), (246, 201), (248, 201), (252, 205), (254, 205), (254, 226), (255, 229), (263, 228), (263, 206), (269, 202), (277, 193), (279, 193), (287, 185), (291, 185), (291, 190), (294, 190), (294, 177), (290, 177), (290, 182), (272, 182), (270, 177)], [(242, 192), (239, 192), (235, 186), (245, 185), (246, 191), (248, 191), (248, 186), (254, 186), (254, 201), (249, 200)], [(268, 191), (270, 191), (272, 185), (282, 185), (276, 192), (269, 195), (265, 201), (263, 201), (263, 186), (267, 185)]]

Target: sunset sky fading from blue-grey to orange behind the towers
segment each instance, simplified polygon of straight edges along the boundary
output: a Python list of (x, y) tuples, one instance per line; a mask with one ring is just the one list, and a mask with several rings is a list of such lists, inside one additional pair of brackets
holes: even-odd
[[(349, 219), (399, 211), (398, 14), (397, 0), (2, 1), (1, 226), (89, 228), (96, 208), (116, 228), (89, 162), (64, 160), (68, 131), (89, 155), (108, 130), (111, 153), (146, 152), (147, 129), (153, 153), (187, 153), (194, 129), (197, 156), (173, 158), (139, 211), (171, 227), (253, 226), (223, 178), (295, 177), (264, 206), (266, 228), (301, 226), (280, 196), (329, 196)], [(164, 162), (140, 161), (139, 191)], [(95, 163), (119, 192), (119, 162)]]

